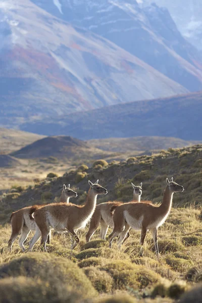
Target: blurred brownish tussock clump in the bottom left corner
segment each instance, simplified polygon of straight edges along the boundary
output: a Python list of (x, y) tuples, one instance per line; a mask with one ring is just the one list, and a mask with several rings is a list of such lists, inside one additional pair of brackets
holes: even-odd
[(55, 280), (55, 284), (43, 283), (26, 277), (6, 278), (0, 281), (0, 303), (37, 303), (58, 302), (73, 303), (80, 301), (80, 295), (68, 290), (66, 285), (61, 285)]

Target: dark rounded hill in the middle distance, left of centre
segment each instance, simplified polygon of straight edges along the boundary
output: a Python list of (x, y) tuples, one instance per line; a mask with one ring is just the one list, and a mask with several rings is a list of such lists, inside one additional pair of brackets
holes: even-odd
[(97, 159), (104, 154), (102, 149), (92, 147), (90, 144), (72, 138), (70, 136), (52, 136), (45, 137), (29, 144), (20, 150), (14, 151), (11, 155), (16, 158), (34, 159), (56, 157), (59, 159)]

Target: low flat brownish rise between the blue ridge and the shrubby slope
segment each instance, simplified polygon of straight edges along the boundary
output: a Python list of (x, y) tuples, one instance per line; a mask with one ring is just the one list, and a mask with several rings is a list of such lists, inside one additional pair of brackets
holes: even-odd
[[(134, 151), (151, 151), (168, 149), (169, 147), (180, 148), (196, 144), (194, 141), (185, 141), (170, 137), (131, 137), (131, 138), (109, 138), (92, 139), (87, 141), (91, 146), (119, 153), (131, 153)], [(198, 142), (199, 143), (199, 142)]]

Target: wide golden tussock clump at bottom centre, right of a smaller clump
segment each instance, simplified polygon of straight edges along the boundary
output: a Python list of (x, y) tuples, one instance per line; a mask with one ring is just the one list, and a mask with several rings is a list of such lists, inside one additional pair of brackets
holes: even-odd
[(116, 260), (101, 269), (111, 274), (115, 289), (145, 288), (161, 279), (161, 276), (154, 271), (132, 264), (130, 261)]

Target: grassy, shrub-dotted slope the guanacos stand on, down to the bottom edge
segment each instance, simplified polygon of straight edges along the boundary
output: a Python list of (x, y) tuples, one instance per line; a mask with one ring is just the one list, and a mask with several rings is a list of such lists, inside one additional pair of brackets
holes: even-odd
[[(152, 157), (141, 156), (127, 162), (99, 161), (94, 169), (82, 166), (60, 178), (46, 178), (33, 187), (21, 188), (21, 192), (17, 189), (14, 192), (13, 188), (0, 201), (3, 224), (0, 226), (0, 302), (189, 303), (193, 297), (195, 303), (200, 302), (201, 156), (201, 144), (170, 148)], [(158, 229), (159, 259), (150, 232), (140, 253), (140, 232), (130, 230), (130, 237), (120, 250), (116, 240), (109, 248), (108, 238), (99, 238), (99, 227), (86, 243), (88, 225), (77, 232), (80, 242), (73, 250), (69, 233), (53, 233), (51, 244), (46, 245), (48, 253), (43, 252), (40, 241), (34, 245), (34, 252), (22, 253), (17, 240), (12, 251), (8, 249), (11, 226), (7, 222), (11, 213), (24, 206), (58, 200), (64, 183), (70, 183), (77, 191), (78, 198), (71, 199), (76, 204), (86, 199), (87, 181), (97, 178), (108, 189), (108, 194), (99, 196), (97, 203), (131, 200), (131, 181), (143, 182), (142, 199), (158, 203), (162, 200), (166, 177), (171, 176), (185, 191), (174, 193), (169, 217)], [(111, 231), (109, 228), (108, 235)], [(26, 248), (32, 236), (31, 232)]]

